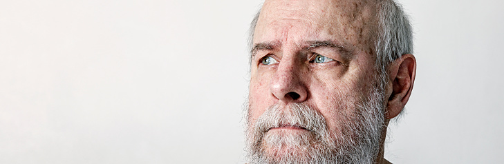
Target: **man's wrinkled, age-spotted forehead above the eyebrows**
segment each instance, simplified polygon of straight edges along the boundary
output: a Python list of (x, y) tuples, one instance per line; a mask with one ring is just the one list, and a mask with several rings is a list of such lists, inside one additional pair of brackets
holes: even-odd
[(364, 50), (375, 23), (373, 4), (362, 0), (265, 1), (253, 41), (333, 40)]

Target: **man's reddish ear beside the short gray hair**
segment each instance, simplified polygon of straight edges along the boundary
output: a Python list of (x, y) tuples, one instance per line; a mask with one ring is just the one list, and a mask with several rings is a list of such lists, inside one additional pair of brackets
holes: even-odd
[(416, 75), (416, 59), (413, 54), (403, 54), (395, 59), (389, 68), (389, 85), (386, 92), (389, 101), (386, 104), (386, 119), (392, 119), (402, 111), (408, 102)]

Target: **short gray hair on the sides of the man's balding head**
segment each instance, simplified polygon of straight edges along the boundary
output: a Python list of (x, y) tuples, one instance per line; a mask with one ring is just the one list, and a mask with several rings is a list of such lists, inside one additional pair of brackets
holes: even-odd
[[(377, 2), (378, 27), (375, 31), (374, 52), (376, 55), (375, 67), (378, 70), (378, 79), (384, 89), (384, 85), (389, 83), (387, 70), (390, 63), (399, 59), (403, 54), (413, 53), (413, 30), (409, 18), (402, 10), (402, 7), (395, 0), (380, 0)], [(259, 19), (257, 12), (250, 23), (248, 45), (252, 50), (254, 30)], [(252, 63), (252, 55), (250, 56)], [(402, 110), (404, 111), (404, 110)], [(400, 113), (402, 115), (402, 112)], [(396, 117), (400, 118), (400, 116)]]

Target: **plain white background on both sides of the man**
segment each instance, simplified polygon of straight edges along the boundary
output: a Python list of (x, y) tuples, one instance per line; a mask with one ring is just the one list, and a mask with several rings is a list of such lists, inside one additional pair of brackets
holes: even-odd
[[(504, 1), (400, 1), (418, 72), (393, 163), (504, 163)], [(0, 163), (243, 163), (261, 1), (0, 1)]]

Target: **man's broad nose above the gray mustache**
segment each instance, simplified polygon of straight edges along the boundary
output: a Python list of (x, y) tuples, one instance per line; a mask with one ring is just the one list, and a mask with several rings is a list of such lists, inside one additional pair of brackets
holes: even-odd
[(306, 101), (308, 90), (301, 79), (302, 70), (294, 61), (281, 61), (270, 81), (270, 92), (284, 103)]

